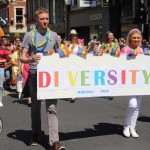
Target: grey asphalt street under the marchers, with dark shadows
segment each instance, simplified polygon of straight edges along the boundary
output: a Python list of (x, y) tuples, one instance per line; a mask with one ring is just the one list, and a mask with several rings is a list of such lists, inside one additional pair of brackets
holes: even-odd
[[(30, 107), (19, 100), (15, 91), (4, 91), (4, 107), (0, 108), (3, 131), (0, 150), (49, 150), (45, 104), (42, 101), (42, 132), (40, 144), (29, 146), (31, 138)], [(75, 103), (59, 100), (60, 142), (66, 150), (150, 150), (150, 96), (141, 103), (137, 130), (140, 138), (122, 135), (127, 97), (83, 98)]]

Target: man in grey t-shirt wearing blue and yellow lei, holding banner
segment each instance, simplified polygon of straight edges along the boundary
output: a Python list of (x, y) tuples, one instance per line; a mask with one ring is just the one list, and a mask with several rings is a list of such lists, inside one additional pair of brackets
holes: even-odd
[[(56, 50), (58, 47), (57, 34), (48, 28), (49, 13), (45, 8), (39, 8), (35, 12), (36, 28), (27, 32), (23, 39), (22, 63), (29, 63), (29, 89), (32, 99), (31, 122), (33, 138), (31, 145), (37, 145), (41, 131), (41, 101), (37, 100), (37, 64), (41, 59), (38, 53), (46, 53), (49, 50)], [(26, 57), (29, 54), (30, 58)], [(43, 56), (44, 57), (44, 56)], [(46, 111), (49, 126), (49, 142), (51, 150), (65, 150), (59, 143), (58, 118), (56, 112), (57, 99), (46, 100)]]

